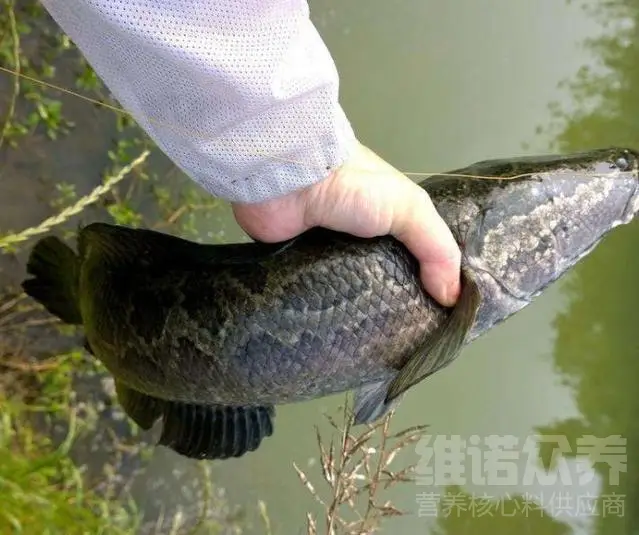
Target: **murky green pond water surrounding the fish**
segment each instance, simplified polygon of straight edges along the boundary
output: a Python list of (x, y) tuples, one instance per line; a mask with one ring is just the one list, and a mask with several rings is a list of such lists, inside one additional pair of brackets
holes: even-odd
[[(633, 43), (639, 2), (606, 4), (589, 3), (601, 9), (590, 15), (581, 4), (559, 0), (318, 0), (311, 2), (311, 12), (338, 65), (342, 102), (360, 139), (399, 169), (432, 172), (551, 149), (639, 147), (639, 50)], [(593, 46), (585, 46), (588, 40)], [(563, 80), (568, 85), (560, 86)], [(552, 102), (559, 107), (549, 107)], [(63, 157), (31, 174), (55, 177), (66, 169), (90, 174), (104, 165), (98, 158), (108, 140), (97, 141), (103, 126), (85, 103), (69, 106), (85, 110), (78, 128), (93, 129), (84, 130), (91, 135), (83, 150), (70, 145)], [(4, 162), (4, 169), (20, 164)], [(3, 187), (0, 182), (5, 201), (27, 202), (27, 189)], [(4, 210), (0, 228), (22, 226), (22, 212)], [(35, 209), (28, 217), (41, 219)], [(229, 239), (240, 236), (228, 212), (221, 217)], [(465, 485), (407, 483), (393, 492), (395, 505), (411, 514), (387, 522), (384, 533), (639, 533), (637, 273), (635, 222), (615, 230), (533, 305), (411, 390), (393, 420), (397, 430), (428, 424), (434, 436), (475, 435), (480, 441), (489, 435), (520, 442), (559, 436), (573, 452), (584, 435), (621, 435), (627, 439), (627, 471), (618, 484), (608, 464), (592, 466), (583, 458), (558, 461), (555, 470), (567, 471), (557, 472), (554, 485), (528, 484), (521, 447), (513, 450), (519, 452), (514, 481), (506, 487), (481, 484), (470, 477), (472, 470), (488, 477), (494, 468), (466, 458)], [(306, 511), (319, 509), (292, 463), (320, 481), (314, 426), (326, 430), (322, 413), (334, 412), (342, 399), (279, 407), (274, 435), (243, 459), (215, 464), (215, 482), (247, 509), (264, 500), (274, 533), (305, 533)], [(425, 475), (426, 459), (417, 450), (405, 451), (396, 462), (417, 462)], [(437, 453), (432, 465), (438, 470), (446, 460)], [(183, 483), (155, 496), (140, 487), (139, 500), (188, 504), (195, 470), (194, 462), (156, 450), (148, 477), (179, 472)], [(580, 485), (578, 477), (588, 481)], [(461, 505), (440, 507), (435, 516), (425, 493), (441, 495), (446, 488)], [(486, 498), (474, 508), (473, 493)], [(543, 514), (526, 505), (533, 500), (528, 494), (544, 503)], [(597, 497), (600, 510), (589, 513)], [(623, 510), (615, 509), (619, 504)], [(519, 512), (513, 514), (515, 508)]]

